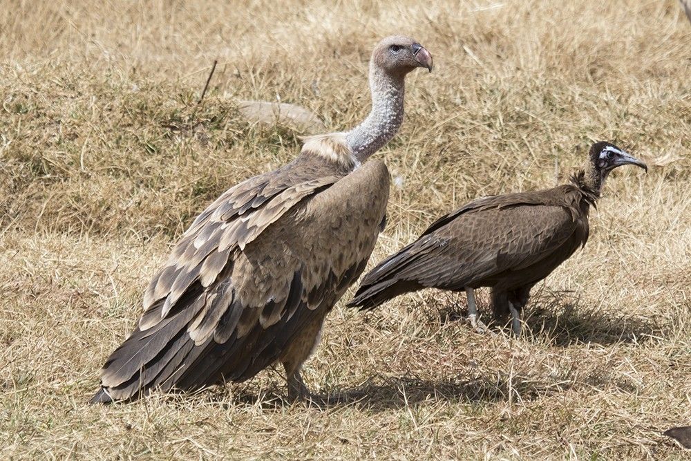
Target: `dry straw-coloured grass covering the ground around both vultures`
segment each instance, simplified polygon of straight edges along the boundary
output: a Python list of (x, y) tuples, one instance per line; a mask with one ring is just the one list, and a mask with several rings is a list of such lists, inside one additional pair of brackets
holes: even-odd
[[(660, 435), (691, 423), (691, 28), (676, 0), (246, 3), (0, 10), (3, 458), (683, 458)], [(372, 44), (397, 31), (437, 68), (410, 77), (404, 127), (378, 154), (399, 185), (372, 263), (470, 198), (565, 180), (593, 139), (653, 165), (609, 180), (585, 250), (538, 285), (527, 335), (469, 332), (452, 294), (339, 304), (305, 370), (342, 397), (327, 408), (277, 402), (271, 370), (86, 405), (176, 236), (298, 150), (236, 101), (348, 127), (368, 110)]]

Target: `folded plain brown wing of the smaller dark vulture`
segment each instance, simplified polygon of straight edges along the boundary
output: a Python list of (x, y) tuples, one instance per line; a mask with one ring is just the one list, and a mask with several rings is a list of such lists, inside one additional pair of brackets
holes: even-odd
[(583, 226), (576, 194), (556, 201), (553, 191), (480, 198), (439, 218), (369, 272), (349, 305), (374, 308), (426, 287), (491, 285), (542, 261)]

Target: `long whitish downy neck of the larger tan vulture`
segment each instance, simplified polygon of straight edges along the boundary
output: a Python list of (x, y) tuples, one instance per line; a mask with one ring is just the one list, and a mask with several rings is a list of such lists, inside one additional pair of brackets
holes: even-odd
[(386, 144), (403, 122), (404, 75), (392, 76), (370, 66), (372, 111), (354, 129), (345, 133), (345, 140), (359, 162), (364, 162)]

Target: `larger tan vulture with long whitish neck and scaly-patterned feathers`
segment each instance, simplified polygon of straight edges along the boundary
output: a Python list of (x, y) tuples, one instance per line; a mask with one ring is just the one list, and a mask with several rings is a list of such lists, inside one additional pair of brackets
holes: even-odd
[(242, 382), (281, 362), (289, 399), (326, 314), (357, 281), (386, 217), (389, 174), (366, 160), (398, 131), (404, 79), (432, 55), (401, 35), (372, 52), (372, 109), (350, 131), (305, 138), (299, 155), (223, 193), (144, 292), (134, 331), (106, 360), (92, 403)]

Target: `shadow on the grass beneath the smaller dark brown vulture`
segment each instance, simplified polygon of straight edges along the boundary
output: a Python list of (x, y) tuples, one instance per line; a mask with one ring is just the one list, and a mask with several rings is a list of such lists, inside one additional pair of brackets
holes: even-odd
[[(480, 298), (478, 310), (483, 319), (491, 317), (491, 303)], [(555, 346), (596, 343), (608, 346), (617, 343), (640, 344), (650, 337), (664, 335), (664, 329), (649, 319), (626, 316), (622, 308), (616, 314), (585, 306), (573, 292), (534, 290), (523, 310), (523, 334)], [(465, 299), (457, 297), (453, 303), (439, 309), (439, 321), (464, 321), (467, 314)], [(493, 326), (504, 335), (510, 328)], [(469, 329), (468, 329), (469, 331)]]

